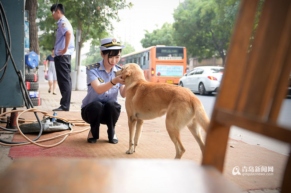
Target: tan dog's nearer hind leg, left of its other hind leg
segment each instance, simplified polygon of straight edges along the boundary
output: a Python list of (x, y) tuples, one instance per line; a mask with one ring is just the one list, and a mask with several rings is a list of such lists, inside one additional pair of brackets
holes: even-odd
[[(168, 114), (167, 114), (168, 115)], [(177, 126), (177, 122), (174, 120), (169, 120), (168, 116), (166, 118), (166, 128), (168, 134), (175, 145), (176, 148), (176, 156), (175, 159), (180, 159), (182, 155), (185, 153), (185, 147), (182, 144), (180, 137), (180, 127)]]

